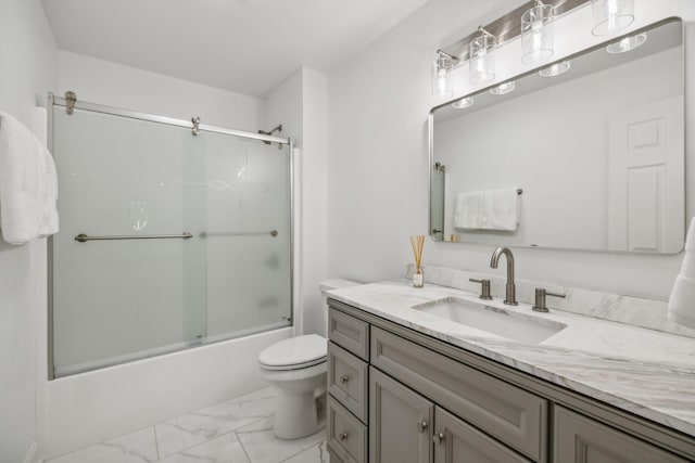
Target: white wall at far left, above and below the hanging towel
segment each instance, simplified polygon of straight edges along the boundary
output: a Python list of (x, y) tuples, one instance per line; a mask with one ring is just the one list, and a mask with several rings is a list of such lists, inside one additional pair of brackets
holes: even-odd
[[(38, 0), (0, 2), (0, 111), (34, 128), (58, 81), (58, 48)], [(36, 456), (37, 352), (46, 333), (46, 240), (0, 240), (0, 461)]]

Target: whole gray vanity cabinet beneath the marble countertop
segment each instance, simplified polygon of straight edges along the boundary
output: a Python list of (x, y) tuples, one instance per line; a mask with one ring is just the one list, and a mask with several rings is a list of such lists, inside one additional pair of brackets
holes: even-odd
[(681, 463), (695, 439), (329, 299), (338, 463)]

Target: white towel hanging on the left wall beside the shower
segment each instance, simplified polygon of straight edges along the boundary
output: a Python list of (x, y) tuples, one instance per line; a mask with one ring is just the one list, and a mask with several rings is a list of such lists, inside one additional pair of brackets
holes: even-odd
[(29, 129), (0, 113), (0, 229), (11, 244), (58, 233), (53, 156)]

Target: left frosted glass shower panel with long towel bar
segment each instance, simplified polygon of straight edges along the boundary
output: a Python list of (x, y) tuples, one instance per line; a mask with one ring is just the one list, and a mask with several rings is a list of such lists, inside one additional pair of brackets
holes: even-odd
[(207, 335), (204, 140), (163, 124), (53, 112), (54, 374), (199, 343)]

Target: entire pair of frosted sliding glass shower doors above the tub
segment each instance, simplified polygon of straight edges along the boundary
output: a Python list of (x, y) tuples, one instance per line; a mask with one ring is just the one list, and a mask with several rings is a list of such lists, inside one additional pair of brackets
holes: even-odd
[(53, 376), (292, 324), (288, 140), (52, 111)]

